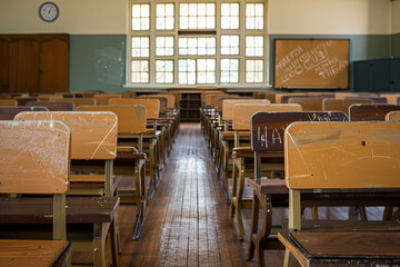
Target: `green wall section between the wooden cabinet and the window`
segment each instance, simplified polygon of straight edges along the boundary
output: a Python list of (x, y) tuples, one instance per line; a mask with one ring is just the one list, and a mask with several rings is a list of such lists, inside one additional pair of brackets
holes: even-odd
[(70, 91), (124, 91), (126, 34), (70, 36)]

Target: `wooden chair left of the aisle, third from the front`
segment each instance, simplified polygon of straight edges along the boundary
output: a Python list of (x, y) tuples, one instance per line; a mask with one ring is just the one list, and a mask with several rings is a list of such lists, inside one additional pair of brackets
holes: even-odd
[[(119, 182), (118, 196), (121, 202), (137, 204), (133, 238), (138, 239), (144, 226), (147, 202), (146, 190), (146, 154), (143, 134), (146, 131), (144, 106), (80, 106), (80, 111), (109, 111), (118, 117), (118, 146), (113, 172), (119, 176), (134, 177), (133, 182)], [(133, 147), (136, 146), (136, 147)], [(122, 185), (123, 184), (123, 185)], [(122, 186), (120, 186), (122, 185)]]

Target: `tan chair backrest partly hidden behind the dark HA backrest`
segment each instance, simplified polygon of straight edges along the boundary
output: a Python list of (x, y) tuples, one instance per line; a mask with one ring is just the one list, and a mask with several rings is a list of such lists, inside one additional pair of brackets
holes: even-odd
[(297, 103), (237, 103), (233, 106), (233, 130), (250, 130), (250, 118), (259, 111), (301, 111)]

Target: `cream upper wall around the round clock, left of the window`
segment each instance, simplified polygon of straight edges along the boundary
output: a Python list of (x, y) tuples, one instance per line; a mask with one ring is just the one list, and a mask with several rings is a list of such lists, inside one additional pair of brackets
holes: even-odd
[(59, 18), (44, 22), (39, 7), (46, 0), (0, 0), (0, 33), (126, 33), (127, 0), (53, 0)]

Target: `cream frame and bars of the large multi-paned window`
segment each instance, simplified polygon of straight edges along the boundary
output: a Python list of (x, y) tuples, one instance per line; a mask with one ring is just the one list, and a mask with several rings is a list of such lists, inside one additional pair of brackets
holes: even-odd
[[(180, 3), (191, 3), (191, 2), (201, 2), (216, 3), (216, 33), (214, 34), (193, 34), (197, 30), (192, 30), (190, 34), (186, 32), (179, 32), (179, 4)], [(239, 29), (221, 29), (221, 3), (239, 3)], [(132, 4), (150, 4), (150, 30), (148, 31), (133, 31), (132, 30)], [(173, 30), (157, 30), (156, 29), (156, 8), (157, 3), (173, 3), (174, 4), (174, 27)], [(247, 30), (246, 29), (246, 3), (263, 3), (263, 30)], [(268, 1), (267, 0), (187, 0), (187, 1), (168, 1), (168, 0), (129, 0), (129, 19), (128, 19), (128, 37), (127, 37), (127, 82), (126, 88), (187, 88), (203, 86), (201, 83), (196, 85), (180, 85), (178, 79), (178, 60), (179, 59), (202, 59), (202, 58), (212, 58), (216, 59), (216, 83), (207, 83), (207, 86), (216, 86), (223, 88), (242, 88), (248, 86), (251, 88), (266, 88), (270, 86), (270, 71), (269, 71), (269, 36), (268, 36)], [(201, 29), (200, 31), (202, 31)], [(208, 31), (209, 29), (204, 30)], [(191, 30), (184, 30), (191, 31)], [(227, 34), (238, 34), (239, 36), (239, 55), (221, 55), (221, 36)], [(150, 55), (149, 58), (132, 58), (131, 57), (131, 37), (150, 37)], [(173, 37), (174, 41), (174, 52), (173, 56), (156, 56), (156, 37)], [(263, 56), (262, 57), (246, 57), (246, 37), (247, 36), (263, 36)], [(187, 56), (179, 55), (178, 40), (179, 37), (214, 37), (216, 38), (216, 56)], [(221, 69), (220, 62), (221, 59), (238, 59), (239, 60), (239, 82), (236, 83), (222, 83), (220, 82)], [(246, 60), (263, 60), (263, 81), (260, 83), (247, 83), (246, 82)], [(131, 82), (131, 60), (149, 60), (149, 83), (132, 83)], [(173, 83), (157, 83), (156, 82), (156, 60), (173, 60)]]

